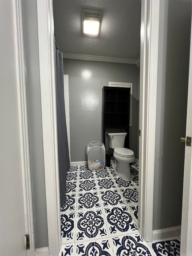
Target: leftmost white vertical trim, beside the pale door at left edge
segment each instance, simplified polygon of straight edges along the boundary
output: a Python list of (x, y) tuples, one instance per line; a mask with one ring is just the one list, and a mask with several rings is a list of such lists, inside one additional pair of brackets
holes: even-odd
[[(17, 72), (17, 97), (19, 111), (19, 133), (21, 150), (21, 171), (23, 204), (25, 214), (25, 233), (29, 233), (30, 250), (26, 250), (27, 256), (35, 254), (34, 227), (33, 227), (33, 204), (31, 188), (31, 169), (29, 155), (29, 134), (27, 116), (27, 95), (26, 95), (26, 72), (25, 72), (25, 53), (23, 42), (23, 22), (22, 22), (22, 2), (13, 1), (14, 14), (14, 43), (16, 52), (16, 72)], [(25, 239), (23, 237), (23, 239)]]

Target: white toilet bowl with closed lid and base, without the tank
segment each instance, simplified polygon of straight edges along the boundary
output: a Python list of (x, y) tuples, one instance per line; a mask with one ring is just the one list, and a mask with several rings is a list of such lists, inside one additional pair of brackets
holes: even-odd
[(115, 158), (114, 169), (116, 173), (126, 180), (131, 179), (129, 163), (135, 161), (134, 152), (131, 149), (116, 148), (114, 149), (113, 156)]

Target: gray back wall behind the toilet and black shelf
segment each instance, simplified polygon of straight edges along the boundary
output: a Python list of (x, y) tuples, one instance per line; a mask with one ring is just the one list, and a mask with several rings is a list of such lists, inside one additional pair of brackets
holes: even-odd
[(69, 75), (71, 161), (87, 161), (86, 145), (101, 142), (102, 88), (109, 82), (133, 83), (130, 148), (137, 156), (139, 68), (133, 64), (63, 59)]

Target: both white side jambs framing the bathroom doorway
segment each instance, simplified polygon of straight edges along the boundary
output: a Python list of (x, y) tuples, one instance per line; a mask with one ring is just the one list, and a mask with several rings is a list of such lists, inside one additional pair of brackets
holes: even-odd
[[(61, 246), (61, 233), (52, 0), (37, 1), (37, 9), (49, 255), (57, 255), (56, 252)], [(138, 223), (144, 239), (151, 241), (159, 0), (142, 0), (141, 25), (140, 173), (142, 175), (139, 185), (141, 200)]]

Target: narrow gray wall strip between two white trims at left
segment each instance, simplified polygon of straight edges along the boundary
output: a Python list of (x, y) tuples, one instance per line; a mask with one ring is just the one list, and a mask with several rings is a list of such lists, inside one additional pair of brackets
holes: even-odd
[(23, 0), (35, 247), (48, 246), (36, 0)]

